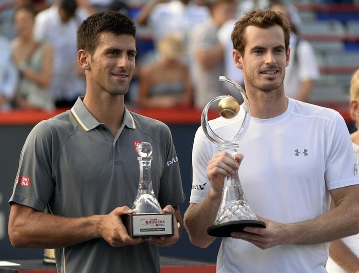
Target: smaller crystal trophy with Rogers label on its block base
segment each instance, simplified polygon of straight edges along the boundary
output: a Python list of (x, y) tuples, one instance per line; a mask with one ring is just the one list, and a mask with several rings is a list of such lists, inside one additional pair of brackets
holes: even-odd
[(173, 213), (161, 213), (151, 180), (152, 146), (141, 142), (137, 146), (140, 164), (140, 181), (132, 209), (134, 214), (127, 214), (125, 225), (131, 237), (173, 236)]

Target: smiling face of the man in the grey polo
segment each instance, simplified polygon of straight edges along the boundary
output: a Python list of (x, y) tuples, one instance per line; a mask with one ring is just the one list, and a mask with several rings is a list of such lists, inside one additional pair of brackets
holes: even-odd
[(100, 34), (86, 81), (95, 90), (125, 95), (135, 70), (136, 43), (130, 34)]

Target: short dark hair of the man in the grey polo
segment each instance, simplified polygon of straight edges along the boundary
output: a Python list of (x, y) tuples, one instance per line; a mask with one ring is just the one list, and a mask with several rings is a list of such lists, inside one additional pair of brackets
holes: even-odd
[(92, 55), (102, 33), (130, 34), (136, 38), (134, 22), (116, 11), (103, 11), (89, 16), (77, 30), (77, 50), (84, 49)]

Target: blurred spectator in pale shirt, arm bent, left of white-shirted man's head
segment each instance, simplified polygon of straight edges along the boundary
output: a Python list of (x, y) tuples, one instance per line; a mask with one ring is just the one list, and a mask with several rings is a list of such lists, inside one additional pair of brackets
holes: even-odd
[(234, 18), (235, 0), (214, 0), (211, 18), (196, 26), (189, 37), (191, 74), (194, 84), (194, 106), (203, 108), (215, 96), (226, 95), (218, 78), (224, 71), (224, 51), (218, 40), (218, 30)]

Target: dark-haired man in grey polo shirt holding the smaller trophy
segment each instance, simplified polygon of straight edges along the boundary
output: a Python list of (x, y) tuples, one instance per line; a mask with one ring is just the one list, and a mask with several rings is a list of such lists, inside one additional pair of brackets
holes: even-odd
[[(59, 273), (159, 273), (157, 246), (179, 239), (184, 195), (170, 130), (124, 106), (135, 33), (133, 22), (116, 12), (81, 24), (77, 59), (86, 95), (71, 110), (37, 124), (21, 152), (9, 237), (15, 247), (56, 248)], [(153, 147), (154, 193), (163, 211), (177, 218), (173, 237), (134, 239), (121, 221), (133, 213), (140, 176), (136, 149), (143, 141)]]

